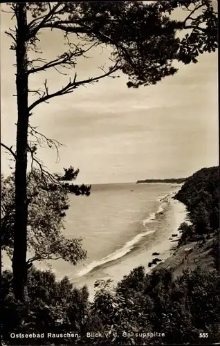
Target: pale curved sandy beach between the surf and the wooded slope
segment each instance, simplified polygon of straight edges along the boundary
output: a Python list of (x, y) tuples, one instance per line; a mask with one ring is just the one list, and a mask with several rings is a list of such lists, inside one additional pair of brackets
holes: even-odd
[[(185, 205), (173, 198), (180, 188), (181, 187), (178, 187), (178, 189), (175, 189), (168, 195), (161, 198), (161, 201), (165, 202), (166, 205), (169, 206), (168, 210), (161, 212), (161, 221), (164, 217), (166, 217), (169, 226), (165, 230), (165, 233), (162, 232), (160, 237), (156, 238), (156, 242), (147, 248), (147, 251), (145, 246), (143, 246), (144, 240), (140, 240), (140, 242), (136, 244), (134, 251), (130, 252), (129, 255), (121, 257), (120, 259), (116, 260), (115, 263), (111, 262), (110, 265), (107, 264), (106, 267), (102, 266), (100, 270), (93, 273), (91, 272), (89, 275), (86, 275), (86, 277), (82, 277), (84, 284), (82, 284), (82, 281), (74, 283), (79, 288), (83, 285), (88, 287), (89, 300), (93, 300), (94, 298), (94, 283), (96, 280), (111, 280), (111, 286), (116, 286), (116, 284), (120, 282), (125, 275), (129, 275), (133, 268), (144, 266), (145, 273), (152, 273), (152, 271), (156, 270), (160, 264), (164, 265), (165, 261), (169, 257), (172, 257), (175, 251), (176, 243), (181, 235), (181, 232), (178, 231), (178, 227), (186, 220), (187, 217)], [(172, 237), (172, 234), (174, 233), (177, 235), (176, 237)], [(172, 238), (174, 242), (172, 242), (170, 238)], [(139, 246), (142, 246), (140, 252), (138, 252)], [(160, 255), (153, 256), (152, 253), (154, 252), (160, 253)], [(149, 267), (149, 262), (152, 262), (155, 257), (160, 258), (161, 262)]]

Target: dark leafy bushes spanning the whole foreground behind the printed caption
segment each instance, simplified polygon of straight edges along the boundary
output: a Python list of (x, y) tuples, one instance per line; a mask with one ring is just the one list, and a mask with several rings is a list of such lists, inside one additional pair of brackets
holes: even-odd
[[(2, 277), (2, 337), (7, 345), (143, 345), (163, 343), (217, 343), (220, 338), (220, 275), (218, 271), (185, 271), (176, 278), (161, 269), (152, 275), (135, 268), (110, 289), (109, 282), (97, 284), (91, 303), (86, 287), (75, 289), (64, 277), (55, 280), (49, 271), (30, 269), (28, 299), (13, 298), (12, 273)], [(95, 331), (96, 338), (87, 333)], [(147, 332), (163, 337), (145, 336)], [(77, 333), (79, 338), (47, 338)], [(10, 338), (10, 333), (44, 333), (44, 338)], [(199, 338), (208, 333), (208, 338)]]

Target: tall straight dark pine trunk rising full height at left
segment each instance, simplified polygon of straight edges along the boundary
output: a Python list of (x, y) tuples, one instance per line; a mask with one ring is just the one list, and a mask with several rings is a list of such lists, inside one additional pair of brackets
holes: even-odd
[(26, 3), (17, 3), (17, 149), (15, 164), (15, 228), (12, 259), (15, 298), (24, 300), (27, 251), (27, 144), (28, 144), (28, 55)]

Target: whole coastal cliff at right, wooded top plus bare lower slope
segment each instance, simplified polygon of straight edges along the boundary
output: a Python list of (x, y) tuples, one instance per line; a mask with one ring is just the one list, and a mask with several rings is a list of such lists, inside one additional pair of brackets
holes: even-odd
[(154, 271), (171, 268), (174, 276), (186, 268), (219, 269), (219, 167), (203, 168), (186, 179), (174, 196), (187, 208), (188, 221), (181, 224), (181, 237), (174, 255)]

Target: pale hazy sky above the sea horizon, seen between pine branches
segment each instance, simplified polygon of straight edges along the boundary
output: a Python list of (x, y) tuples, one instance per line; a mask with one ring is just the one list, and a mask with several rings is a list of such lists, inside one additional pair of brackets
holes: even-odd
[[(11, 15), (1, 12), (1, 142), (9, 147), (16, 138), (15, 52), (4, 31), (13, 26)], [(44, 30), (39, 38), (42, 57), (54, 58), (64, 49), (58, 33)], [(108, 57), (109, 51), (94, 48), (89, 59), (78, 60), (77, 78), (99, 75)], [(178, 68), (154, 86), (128, 89), (127, 76), (116, 73), (120, 78), (103, 78), (39, 105), (31, 125), (65, 145), (58, 163), (51, 149), (40, 149), (39, 157), (51, 172), (79, 167), (77, 183), (185, 177), (218, 165), (217, 53)], [(51, 92), (68, 82), (53, 70), (32, 75), (30, 88), (42, 87), (45, 78)], [(10, 174), (10, 156), (1, 152), (1, 172)]]

